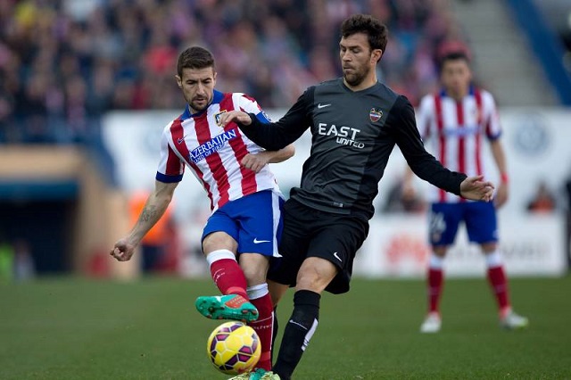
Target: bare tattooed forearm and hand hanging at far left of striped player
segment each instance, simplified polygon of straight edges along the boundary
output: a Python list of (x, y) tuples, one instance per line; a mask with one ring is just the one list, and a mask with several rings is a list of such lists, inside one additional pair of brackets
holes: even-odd
[(135, 253), (135, 248), (141, 242), (143, 236), (161, 219), (164, 211), (167, 211), (177, 186), (178, 182), (167, 184), (155, 181), (154, 191), (147, 198), (137, 223), (131, 229), (131, 232), (127, 236), (120, 238), (111, 252), (109, 252), (112, 257), (118, 261), (131, 259), (133, 253)]

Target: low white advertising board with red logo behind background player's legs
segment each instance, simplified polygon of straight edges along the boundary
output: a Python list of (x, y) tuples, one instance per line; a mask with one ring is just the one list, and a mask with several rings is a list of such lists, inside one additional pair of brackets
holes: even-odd
[[(559, 276), (566, 272), (564, 223), (560, 215), (505, 217), (500, 220), (500, 250), (512, 276)], [(425, 277), (430, 246), (423, 215), (383, 215), (371, 220), (353, 273), (364, 277)], [(460, 228), (444, 261), (451, 277), (482, 277), (484, 256)]]

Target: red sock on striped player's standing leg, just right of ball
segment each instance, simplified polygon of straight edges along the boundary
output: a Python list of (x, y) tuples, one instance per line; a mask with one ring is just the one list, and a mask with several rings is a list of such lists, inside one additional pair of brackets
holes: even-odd
[(270, 371), (271, 340), (274, 328), (274, 306), (271, 303), (269, 293), (266, 293), (255, 300), (251, 299), (250, 302), (253, 303), (260, 313), (260, 317), (258, 319), (248, 324), (248, 326), (251, 326), (256, 333), (258, 333), (258, 336), (260, 336), (261, 356), (256, 368), (264, 368), (265, 370)]

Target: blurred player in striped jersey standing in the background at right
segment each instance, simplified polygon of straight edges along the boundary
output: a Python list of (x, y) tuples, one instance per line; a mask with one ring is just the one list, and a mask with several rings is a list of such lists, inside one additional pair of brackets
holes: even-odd
[[(459, 223), (464, 221), (471, 242), (484, 252), (487, 275), (500, 309), (501, 326), (525, 327), (527, 318), (517, 315), (509, 303), (508, 281), (498, 249), (496, 210), (508, 200), (506, 158), (501, 145), (501, 126), (492, 95), (472, 84), (468, 55), (451, 52), (440, 62), (443, 89), (426, 95), (418, 110), (418, 131), (432, 153), (446, 167), (468, 176), (489, 173), (484, 168), (484, 140), (501, 173), (494, 202), (470, 202), (458, 195), (433, 187), (429, 235), (433, 252), (429, 259), (427, 287), (428, 313), (420, 326), (423, 333), (441, 328), (439, 301), (443, 290), (443, 260), (453, 244)], [(429, 149), (430, 150), (430, 149)]]

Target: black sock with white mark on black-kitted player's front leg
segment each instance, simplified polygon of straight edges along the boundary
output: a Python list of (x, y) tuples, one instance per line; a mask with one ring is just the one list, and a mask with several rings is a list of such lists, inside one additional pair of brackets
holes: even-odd
[(294, 369), (302, 359), (303, 351), (318, 327), (320, 298), (319, 293), (309, 290), (300, 290), (294, 294), (294, 312), (285, 326), (273, 368), (274, 373), (282, 380), (291, 379)]

